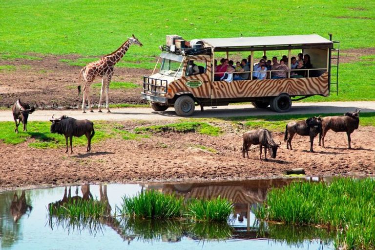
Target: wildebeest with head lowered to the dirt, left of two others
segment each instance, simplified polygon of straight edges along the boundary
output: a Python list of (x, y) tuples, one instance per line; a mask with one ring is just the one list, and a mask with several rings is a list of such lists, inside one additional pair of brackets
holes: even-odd
[(276, 158), (277, 148), (281, 144), (276, 144), (271, 136), (270, 131), (267, 129), (258, 129), (258, 130), (250, 130), (245, 132), (243, 135), (244, 138), (244, 145), (242, 147), (242, 157), (245, 158), (246, 155), (249, 158), (249, 149), (251, 145), (258, 145), (260, 148), (260, 156), (259, 159), (262, 160), (262, 148), (264, 147), (264, 158), (267, 160), (267, 148), (271, 151), (271, 157)]

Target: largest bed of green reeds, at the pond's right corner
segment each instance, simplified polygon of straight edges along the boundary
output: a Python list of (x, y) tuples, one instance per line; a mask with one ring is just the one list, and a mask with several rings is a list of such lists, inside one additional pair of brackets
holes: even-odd
[(375, 181), (293, 182), (272, 189), (255, 210), (260, 220), (336, 229), (336, 248), (375, 249)]

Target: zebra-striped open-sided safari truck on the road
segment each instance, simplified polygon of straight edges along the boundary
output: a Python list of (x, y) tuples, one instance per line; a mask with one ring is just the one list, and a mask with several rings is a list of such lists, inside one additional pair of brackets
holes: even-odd
[[(337, 93), (338, 89), (339, 42), (332, 41), (331, 34), (329, 40), (312, 34), (191, 41), (185, 41), (178, 35), (168, 35), (166, 45), (160, 46), (160, 49), (162, 53), (157, 63), (160, 68), (155, 66), (150, 76), (144, 76), (142, 91), (142, 99), (150, 101), (155, 111), (174, 107), (176, 114), (189, 116), (196, 104), (203, 111), (205, 106), (251, 102), (256, 108), (270, 106), (275, 112), (288, 112), (292, 101), (313, 95), (329, 96), (331, 91)], [(289, 69), (292, 55), (297, 57), (297, 53), (309, 55), (312, 65), (284, 70), (286, 77), (278, 79), (273, 79), (274, 74), (282, 70), (269, 68), (265, 79), (255, 79), (254, 73), (260, 70), (256, 68), (259, 59), (254, 58), (254, 52), (261, 51), (256, 53), (272, 59), (277, 50), (288, 54), (283, 61), (287, 61), (285, 65)], [(217, 53), (225, 58), (230, 58), (231, 53), (237, 58), (241, 53), (250, 54), (249, 67), (244, 67), (248, 71), (232, 73), (234, 76), (248, 73), (248, 77), (241, 80), (229, 80), (233, 75), (227, 79), (215, 77), (219, 75), (215, 72), (215, 59), (220, 61), (221, 58), (215, 57)]]

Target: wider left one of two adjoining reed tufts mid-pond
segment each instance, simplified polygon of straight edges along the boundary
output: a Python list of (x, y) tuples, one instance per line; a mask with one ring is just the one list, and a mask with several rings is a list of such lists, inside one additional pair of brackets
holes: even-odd
[(123, 197), (120, 214), (138, 218), (180, 217), (183, 210), (183, 197), (146, 190), (138, 196)]

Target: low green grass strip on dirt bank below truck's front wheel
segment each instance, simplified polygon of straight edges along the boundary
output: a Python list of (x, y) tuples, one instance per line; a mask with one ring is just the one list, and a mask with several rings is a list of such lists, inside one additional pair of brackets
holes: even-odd
[(209, 136), (219, 136), (223, 132), (219, 127), (212, 126), (206, 122), (180, 122), (171, 123), (166, 125), (153, 125), (146, 127), (139, 127), (134, 129), (135, 132), (152, 132), (152, 133), (162, 133), (162, 132), (177, 132), (177, 133), (189, 133), (197, 132), (203, 135)]

